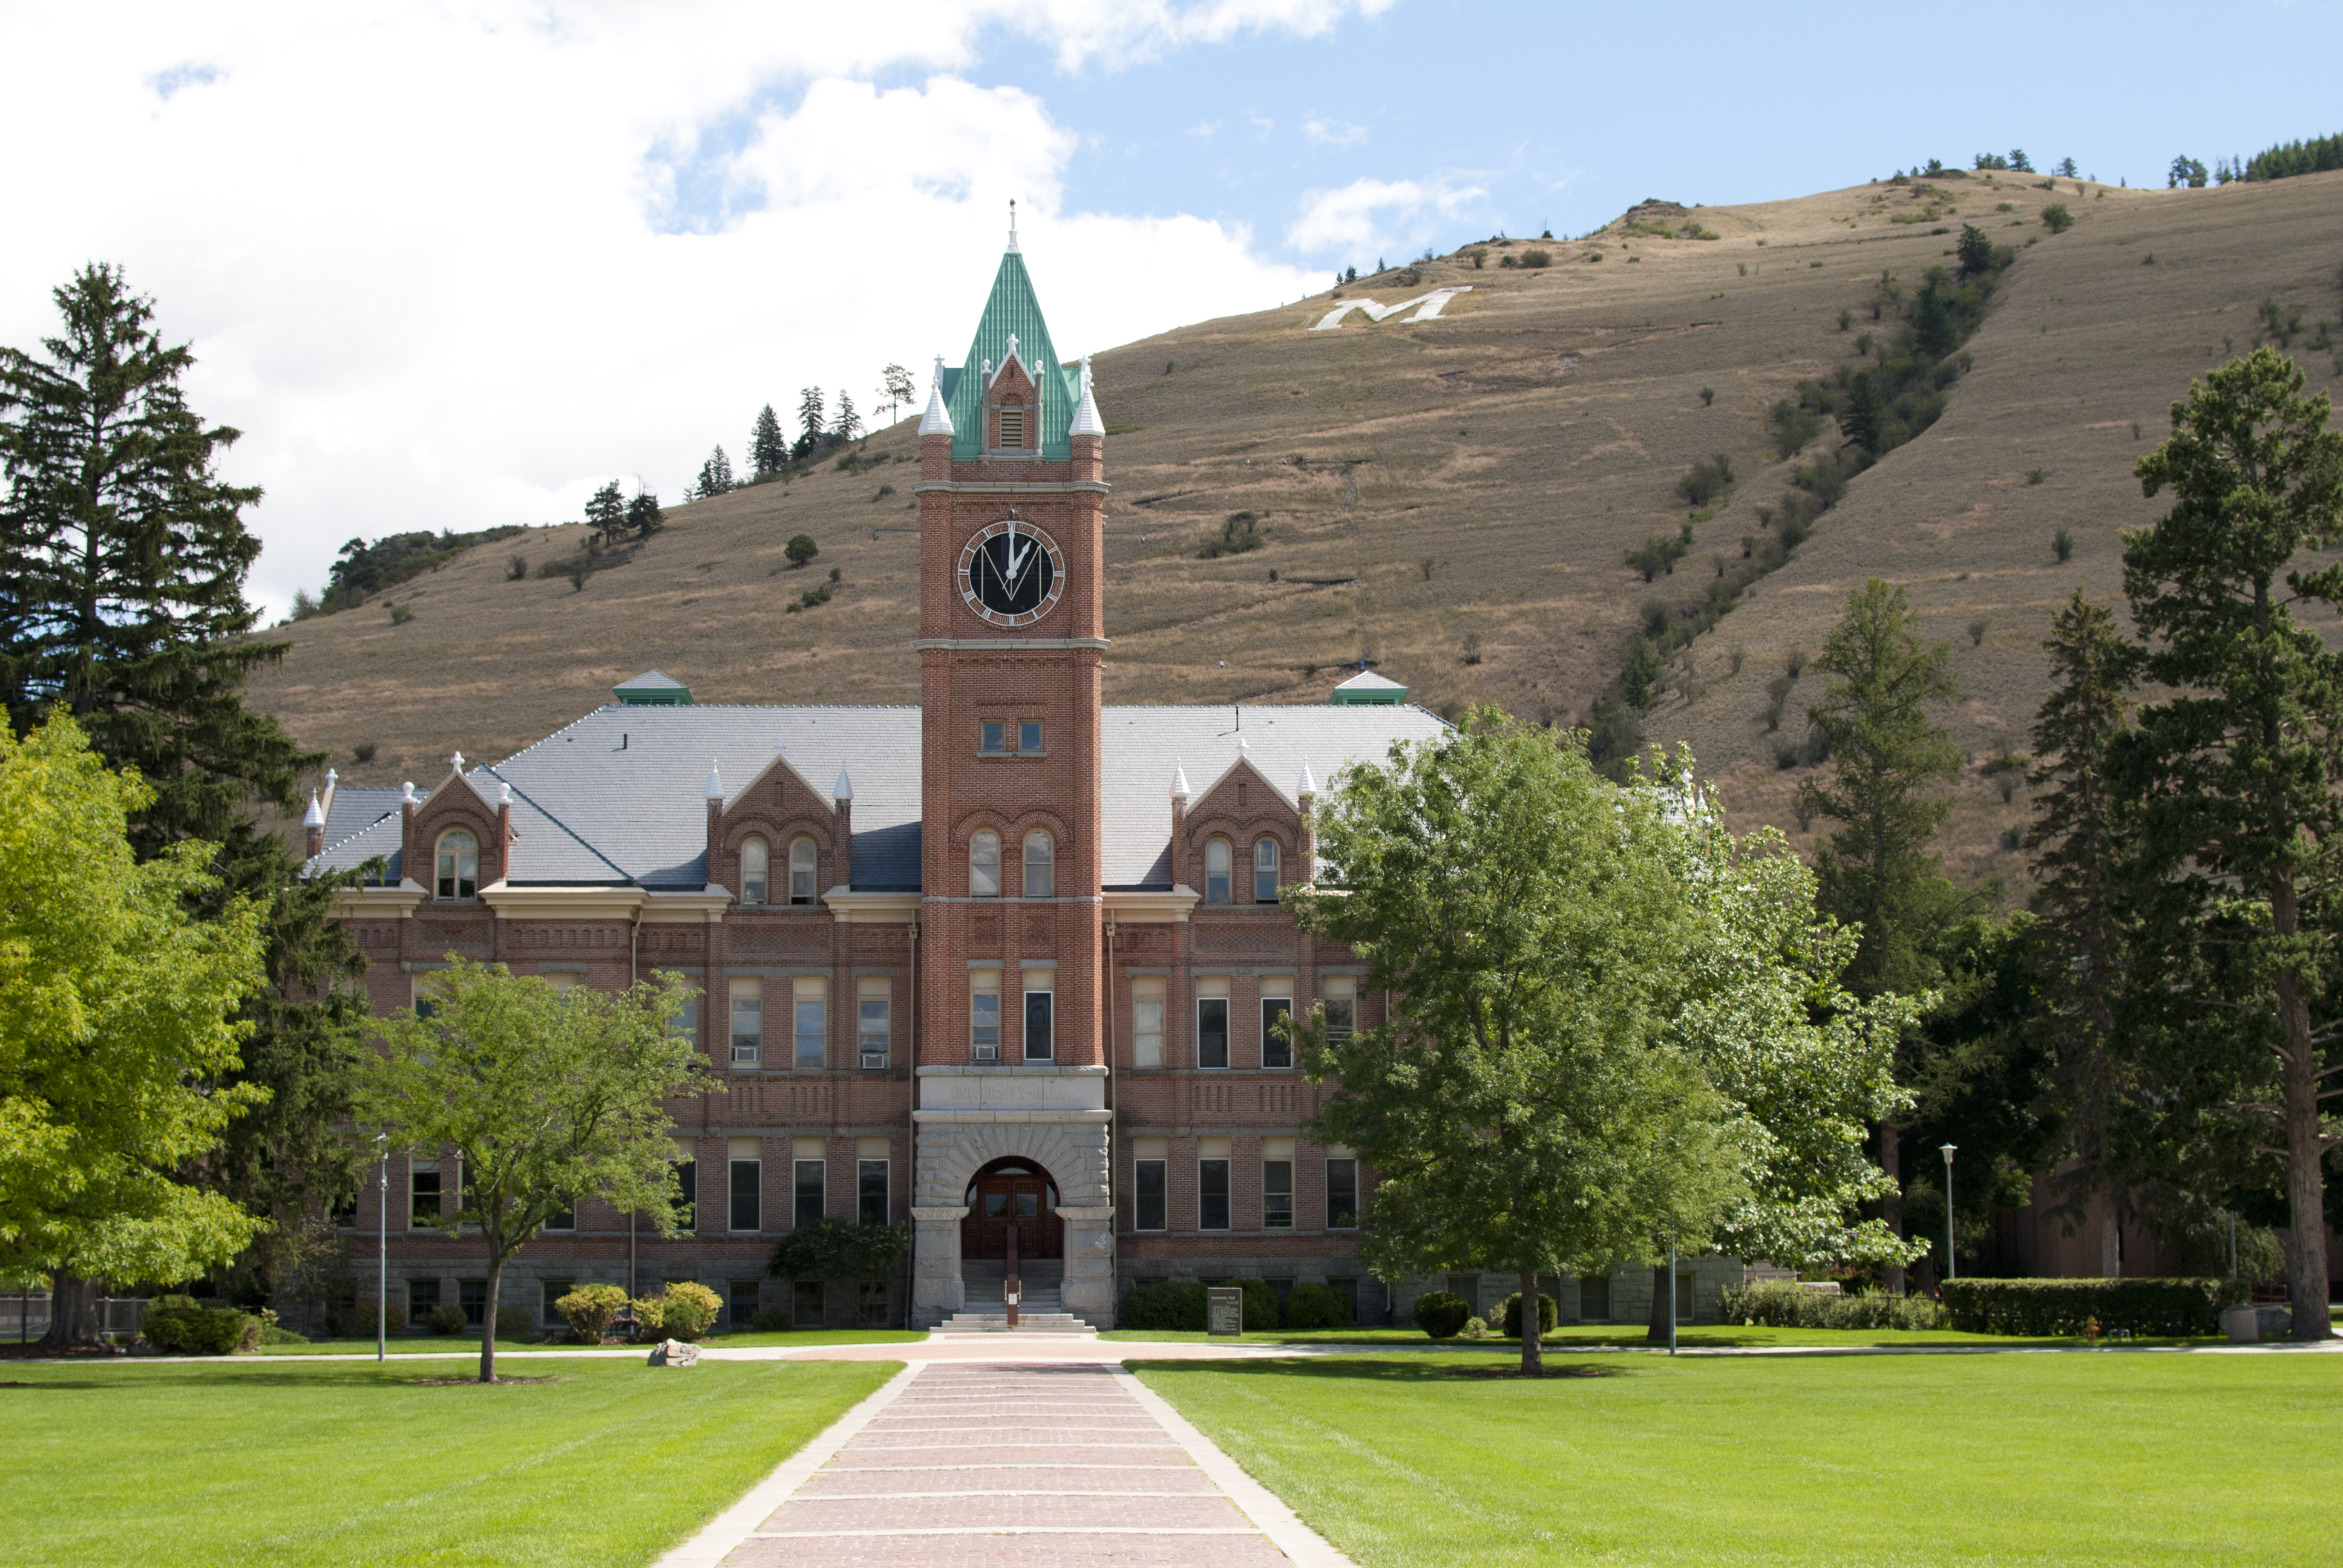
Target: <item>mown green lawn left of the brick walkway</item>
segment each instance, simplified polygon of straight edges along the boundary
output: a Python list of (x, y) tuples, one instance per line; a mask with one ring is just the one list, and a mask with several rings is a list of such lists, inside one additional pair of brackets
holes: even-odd
[(7, 1563), (647, 1563), (897, 1362), (7, 1364)]

